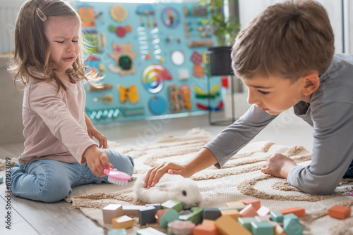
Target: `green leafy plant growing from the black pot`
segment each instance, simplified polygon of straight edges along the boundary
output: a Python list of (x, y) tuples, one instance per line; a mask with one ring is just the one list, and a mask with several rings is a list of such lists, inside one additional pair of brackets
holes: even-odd
[[(232, 1), (228, 0), (227, 2)], [(225, 17), (224, 0), (198, 0), (201, 6), (207, 8), (208, 17), (201, 19), (203, 24), (213, 28), (213, 34), (217, 39), (217, 46), (230, 46), (237, 37), (240, 25), (234, 23), (235, 19)]]

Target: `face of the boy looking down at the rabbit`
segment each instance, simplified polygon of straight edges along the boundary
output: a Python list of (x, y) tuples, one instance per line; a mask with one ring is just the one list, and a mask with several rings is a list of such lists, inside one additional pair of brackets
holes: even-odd
[(242, 79), (249, 88), (248, 103), (255, 104), (271, 115), (280, 114), (299, 101), (309, 101), (310, 97), (302, 94), (303, 80), (291, 83), (280, 77), (253, 77)]

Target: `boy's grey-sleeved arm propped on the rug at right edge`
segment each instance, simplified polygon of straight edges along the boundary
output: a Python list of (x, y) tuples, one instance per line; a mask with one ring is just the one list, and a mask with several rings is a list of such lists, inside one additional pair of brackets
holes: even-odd
[[(313, 107), (313, 106), (311, 106)], [(353, 104), (326, 103), (312, 108), (314, 126), (311, 163), (296, 166), (288, 174), (289, 184), (311, 194), (330, 194), (353, 160)]]

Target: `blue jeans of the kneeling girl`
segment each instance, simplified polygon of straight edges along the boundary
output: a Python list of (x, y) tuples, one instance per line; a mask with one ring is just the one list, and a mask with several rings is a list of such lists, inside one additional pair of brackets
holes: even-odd
[[(104, 149), (114, 168), (133, 174), (133, 158)], [(87, 163), (64, 163), (58, 160), (34, 160), (11, 169), (11, 193), (35, 201), (56, 202), (66, 198), (72, 188), (82, 184), (108, 183), (107, 176), (97, 177)]]

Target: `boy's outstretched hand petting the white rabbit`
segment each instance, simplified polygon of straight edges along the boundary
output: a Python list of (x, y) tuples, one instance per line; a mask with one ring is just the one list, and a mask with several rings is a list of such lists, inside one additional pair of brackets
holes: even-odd
[(184, 165), (178, 165), (175, 163), (162, 163), (157, 167), (153, 167), (148, 171), (145, 177), (144, 187), (150, 189), (150, 187), (155, 186), (160, 181), (163, 174), (180, 174), (183, 177), (191, 177), (188, 170)]

